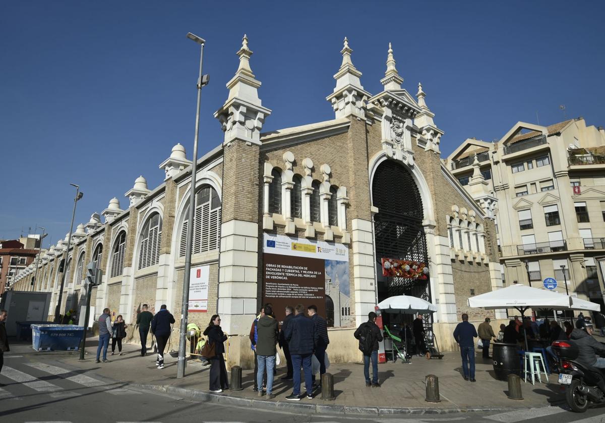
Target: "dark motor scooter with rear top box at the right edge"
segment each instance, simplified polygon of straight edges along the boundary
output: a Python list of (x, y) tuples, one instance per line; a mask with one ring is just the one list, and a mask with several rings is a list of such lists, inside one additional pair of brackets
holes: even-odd
[(574, 341), (555, 341), (551, 346), (560, 359), (559, 384), (567, 387), (565, 400), (569, 408), (583, 413), (591, 404), (605, 403), (605, 369), (578, 362)]

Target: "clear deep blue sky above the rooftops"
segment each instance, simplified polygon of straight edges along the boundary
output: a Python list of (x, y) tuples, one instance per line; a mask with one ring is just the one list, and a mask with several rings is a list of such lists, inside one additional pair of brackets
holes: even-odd
[[(239, 7), (238, 7), (239, 5)], [(500, 138), (517, 121), (584, 116), (605, 125), (605, 2), (4, 1), (0, 5), (0, 239), (44, 226), (50, 241), (87, 222), (143, 175), (154, 188), (172, 145), (191, 155), (198, 48), (206, 39), (201, 145), (223, 133), (247, 33), (263, 130), (333, 118), (325, 96), (342, 38), (365, 89), (378, 93), (388, 42), (404, 88), (422, 82), (443, 156), (466, 138)], [(75, 227), (75, 225), (74, 225)], [(48, 241), (48, 238), (47, 240)], [(45, 242), (45, 247), (48, 242)]]

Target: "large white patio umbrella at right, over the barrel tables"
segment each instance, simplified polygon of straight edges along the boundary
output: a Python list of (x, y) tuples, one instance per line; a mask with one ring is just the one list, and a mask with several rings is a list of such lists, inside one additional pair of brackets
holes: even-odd
[[(516, 308), (521, 316), (528, 308), (549, 308), (553, 310), (590, 310), (599, 311), (600, 304), (585, 301), (577, 297), (559, 294), (546, 289), (514, 284), (506, 288), (476, 295), (468, 299), (469, 307), (495, 310), (497, 308)], [(525, 331), (523, 331), (525, 333)], [(525, 333), (525, 348), (528, 347)]]

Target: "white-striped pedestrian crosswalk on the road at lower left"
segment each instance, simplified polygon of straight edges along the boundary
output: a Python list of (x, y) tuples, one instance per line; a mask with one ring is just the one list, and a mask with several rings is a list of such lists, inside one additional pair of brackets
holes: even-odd
[[(53, 377), (54, 376), (54, 377)], [(8, 379), (8, 380), (7, 380)], [(73, 383), (65, 384), (64, 381)], [(0, 373), (0, 400), (22, 399), (28, 395), (48, 395), (68, 399), (82, 395), (82, 388), (94, 388), (111, 395), (140, 395), (140, 391), (105, 382), (56, 365), (27, 362), (18, 368), (5, 365)], [(11, 383), (7, 383), (11, 382)], [(69, 385), (69, 386), (67, 386)], [(23, 389), (25, 388), (25, 390)]]

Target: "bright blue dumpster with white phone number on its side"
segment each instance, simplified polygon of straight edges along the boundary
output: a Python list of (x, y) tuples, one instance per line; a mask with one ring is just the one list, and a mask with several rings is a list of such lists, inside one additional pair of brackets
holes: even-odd
[(31, 325), (31, 346), (36, 351), (77, 350), (83, 330), (78, 325)]

